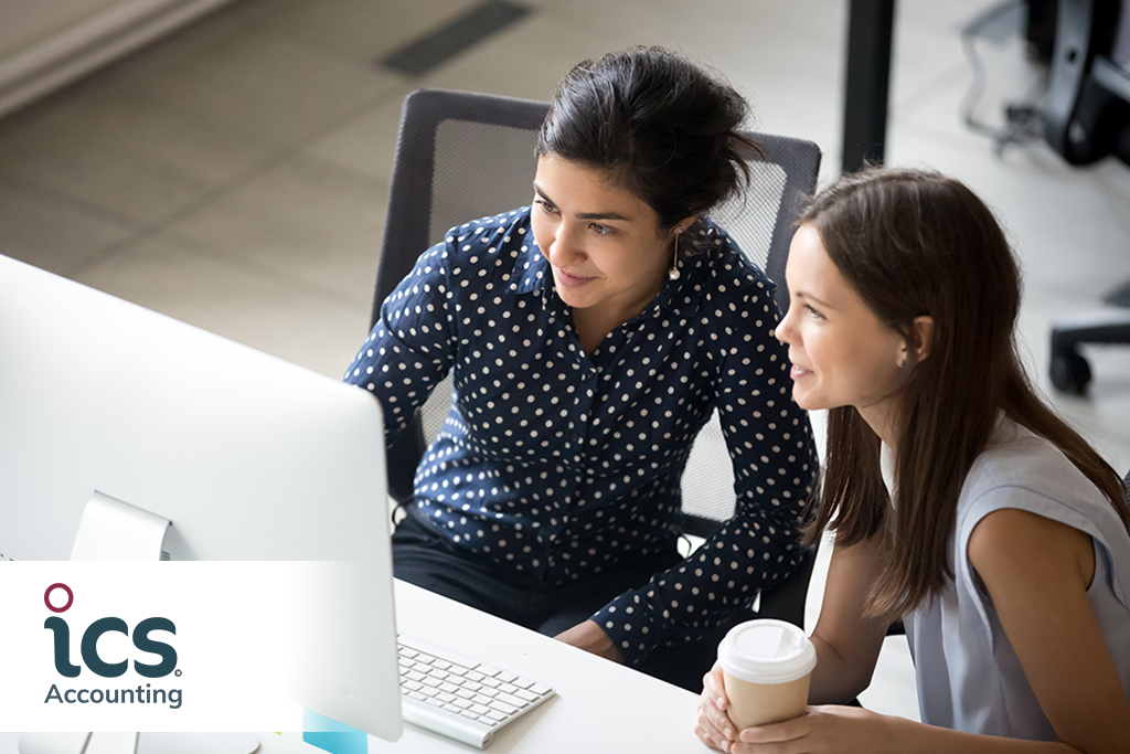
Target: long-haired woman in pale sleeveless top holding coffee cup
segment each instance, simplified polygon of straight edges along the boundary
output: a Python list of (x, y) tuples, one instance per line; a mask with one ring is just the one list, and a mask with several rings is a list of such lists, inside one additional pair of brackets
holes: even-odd
[[(809, 701), (867, 687), (906, 626), (923, 722), (852, 707), (737, 731), (725, 752), (1130, 752), (1130, 511), (1119, 475), (1035, 395), (1019, 270), (992, 213), (937, 173), (842, 177), (802, 211), (777, 327), (793, 397), (827, 408), (836, 545)], [(1053, 743), (1055, 742), (1055, 743)]]

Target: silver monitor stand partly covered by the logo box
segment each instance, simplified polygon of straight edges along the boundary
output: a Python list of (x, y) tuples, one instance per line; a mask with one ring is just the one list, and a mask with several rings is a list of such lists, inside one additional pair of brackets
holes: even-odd
[[(168, 560), (172, 522), (95, 492), (82, 510), (72, 561)], [(232, 733), (24, 733), (19, 754), (253, 754), (259, 738)]]

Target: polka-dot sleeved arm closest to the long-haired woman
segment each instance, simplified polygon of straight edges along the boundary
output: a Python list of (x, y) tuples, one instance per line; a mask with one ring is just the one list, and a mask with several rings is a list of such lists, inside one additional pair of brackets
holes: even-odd
[(736, 511), (684, 562), (594, 616), (628, 661), (701, 639), (799, 562), (798, 525), (818, 463), (808, 416), (790, 397), (784, 349), (770, 335), (775, 312), (768, 284), (753, 275), (702, 312)]

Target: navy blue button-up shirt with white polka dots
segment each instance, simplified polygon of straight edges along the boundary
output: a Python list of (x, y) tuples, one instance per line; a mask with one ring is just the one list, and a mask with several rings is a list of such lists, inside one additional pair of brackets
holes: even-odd
[(455, 545), (551, 583), (672, 547), (683, 468), (718, 409), (736, 513), (592, 616), (628, 662), (701, 638), (788, 574), (817, 470), (772, 336), (772, 284), (713, 224), (698, 245), (589, 356), (529, 208), (468, 223), (389, 295), (345, 376), (381, 400), (391, 445), (450, 373), (451, 411), (417, 469), (415, 503)]

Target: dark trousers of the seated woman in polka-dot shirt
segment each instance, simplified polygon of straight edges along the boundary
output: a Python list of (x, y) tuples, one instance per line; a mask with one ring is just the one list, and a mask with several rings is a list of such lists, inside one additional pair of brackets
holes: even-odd
[[(393, 572), (398, 579), (437, 595), (525, 626), (547, 636), (586, 621), (616, 597), (638, 589), (652, 575), (683, 557), (672, 547), (621, 567), (580, 581), (545, 584), (498, 566), (451, 544), (409, 513), (392, 535)], [(660, 647), (636, 666), (637, 670), (698, 693), (702, 677), (718, 653), (718, 644), (736, 623), (753, 617), (742, 610), (696, 642)]]

